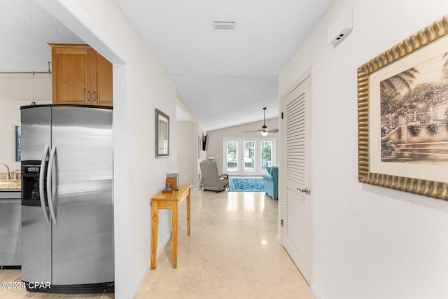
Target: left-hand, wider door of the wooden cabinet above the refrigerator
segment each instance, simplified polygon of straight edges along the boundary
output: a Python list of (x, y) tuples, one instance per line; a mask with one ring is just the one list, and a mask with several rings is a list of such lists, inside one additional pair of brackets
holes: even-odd
[(90, 48), (52, 48), (53, 104), (91, 104)]

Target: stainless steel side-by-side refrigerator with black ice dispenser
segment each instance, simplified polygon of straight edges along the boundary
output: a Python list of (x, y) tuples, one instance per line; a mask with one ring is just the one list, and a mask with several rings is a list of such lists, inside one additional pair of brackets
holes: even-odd
[(112, 292), (111, 107), (20, 112), (22, 281), (28, 291)]

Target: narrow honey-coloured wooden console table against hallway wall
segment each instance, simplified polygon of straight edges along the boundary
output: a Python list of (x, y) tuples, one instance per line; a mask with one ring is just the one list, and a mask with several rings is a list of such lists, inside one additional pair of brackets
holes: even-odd
[(159, 209), (172, 210), (172, 244), (173, 244), (173, 267), (177, 268), (177, 207), (187, 199), (187, 233), (190, 235), (190, 185), (180, 185), (174, 193), (159, 193), (151, 198), (153, 204), (151, 213), (151, 270), (155, 269), (157, 252), (157, 235), (159, 224)]

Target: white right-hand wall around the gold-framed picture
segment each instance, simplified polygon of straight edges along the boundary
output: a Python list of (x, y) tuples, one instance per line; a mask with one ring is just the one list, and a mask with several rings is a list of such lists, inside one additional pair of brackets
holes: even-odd
[[(328, 27), (345, 8), (353, 32), (333, 48)], [(447, 11), (440, 0), (335, 0), (279, 76), (281, 95), (313, 67), (316, 298), (447, 298), (448, 202), (358, 183), (356, 86), (360, 65)]]

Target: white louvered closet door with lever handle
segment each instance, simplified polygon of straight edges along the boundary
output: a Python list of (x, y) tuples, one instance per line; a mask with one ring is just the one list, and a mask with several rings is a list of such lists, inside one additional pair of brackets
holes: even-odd
[(286, 187), (283, 196), (283, 246), (308, 283), (310, 277), (311, 186), (310, 104), (311, 78), (308, 77), (283, 98), (283, 132), (286, 143)]

